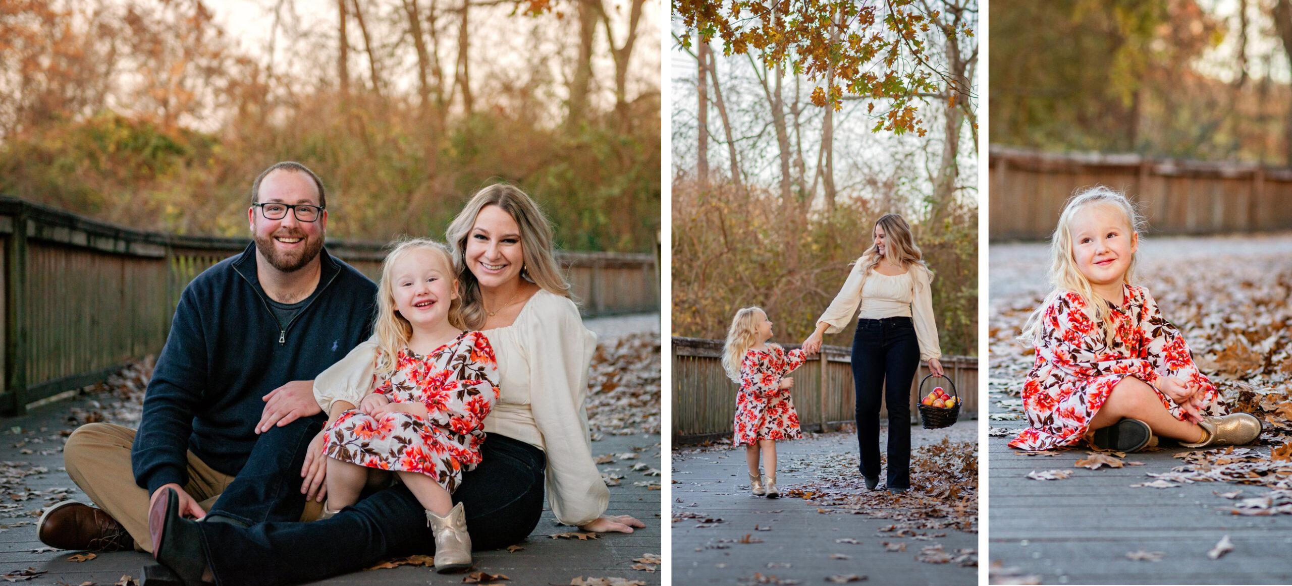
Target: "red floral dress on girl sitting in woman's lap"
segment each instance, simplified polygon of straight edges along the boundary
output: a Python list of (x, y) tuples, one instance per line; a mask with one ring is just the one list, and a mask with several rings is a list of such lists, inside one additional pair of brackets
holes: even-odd
[(395, 372), (373, 377), (390, 403), (420, 401), (429, 417), (350, 409), (327, 429), (327, 454), (370, 469), (421, 472), (452, 493), (464, 470), (481, 462), (484, 416), (497, 400), (497, 360), (488, 338), (463, 332), (426, 356), (403, 349)]

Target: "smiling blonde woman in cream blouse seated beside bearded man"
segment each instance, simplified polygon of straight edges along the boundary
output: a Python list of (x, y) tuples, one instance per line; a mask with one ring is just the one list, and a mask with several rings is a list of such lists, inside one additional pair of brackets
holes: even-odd
[[(472, 545), (486, 550), (525, 540), (543, 514), (544, 485), (563, 524), (624, 533), (646, 527), (629, 515), (605, 514), (610, 493), (592, 458), (583, 407), (597, 338), (570, 299), (547, 218), (521, 190), (494, 185), (468, 201), (448, 226), (447, 240), (464, 325), (488, 337), (500, 373), (500, 395), (484, 419), (481, 463), (463, 472), (461, 489), (453, 493), (453, 502), (464, 505)], [(362, 398), (372, 381), (375, 349), (375, 341), (360, 343), (319, 374), (315, 395)], [(320, 458), (314, 452), (302, 476), (315, 474)], [(425, 552), (434, 538), (421, 505), (402, 485), (314, 523), (242, 528), (168, 514), (164, 532), (174, 536), (165, 556), (191, 560), (168, 564), (181, 577), (238, 585), (322, 580)], [(162, 549), (168, 549), (165, 542)]]

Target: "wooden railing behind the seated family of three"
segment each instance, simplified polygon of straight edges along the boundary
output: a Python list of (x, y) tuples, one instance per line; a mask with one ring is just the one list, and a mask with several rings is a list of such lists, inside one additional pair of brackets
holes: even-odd
[[(248, 239), (123, 228), (0, 196), (0, 413), (103, 379), (165, 343), (180, 293)], [(384, 243), (328, 240), (376, 280)], [(585, 315), (659, 311), (655, 254), (558, 252)]]

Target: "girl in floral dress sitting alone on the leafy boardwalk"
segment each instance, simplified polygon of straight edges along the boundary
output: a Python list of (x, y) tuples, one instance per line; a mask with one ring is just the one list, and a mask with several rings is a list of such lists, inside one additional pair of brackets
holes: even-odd
[(1052, 239), (1054, 290), (1019, 341), (1036, 347), (1023, 408), (1031, 427), (1009, 443), (1039, 450), (1079, 443), (1136, 452), (1173, 438), (1181, 445), (1255, 441), (1260, 419), (1226, 413), (1189, 346), (1134, 287), (1142, 219), (1107, 187), (1074, 195)]

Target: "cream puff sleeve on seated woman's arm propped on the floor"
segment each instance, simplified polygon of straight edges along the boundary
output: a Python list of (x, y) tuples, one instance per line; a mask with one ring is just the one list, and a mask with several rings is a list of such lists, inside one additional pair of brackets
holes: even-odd
[(525, 330), (530, 410), (548, 457), (548, 502), (567, 525), (592, 523), (610, 503), (610, 489), (592, 458), (588, 432), (588, 367), (597, 336), (583, 327), (568, 298), (539, 292)]

